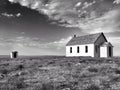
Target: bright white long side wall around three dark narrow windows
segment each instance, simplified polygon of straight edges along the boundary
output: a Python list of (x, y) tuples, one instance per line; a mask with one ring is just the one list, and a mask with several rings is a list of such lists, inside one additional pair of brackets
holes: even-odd
[[(77, 53), (77, 47), (79, 46), (79, 53)], [(85, 52), (85, 46), (88, 46), (88, 52)], [(72, 47), (72, 53), (70, 53), (70, 47)], [(94, 57), (94, 44), (86, 45), (72, 45), (66, 46), (66, 56), (91, 56)]]

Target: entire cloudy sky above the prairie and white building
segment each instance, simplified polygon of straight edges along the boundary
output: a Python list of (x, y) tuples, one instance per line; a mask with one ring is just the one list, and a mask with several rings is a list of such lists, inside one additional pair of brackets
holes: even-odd
[(65, 55), (74, 34), (99, 32), (120, 56), (120, 0), (0, 0), (0, 55)]

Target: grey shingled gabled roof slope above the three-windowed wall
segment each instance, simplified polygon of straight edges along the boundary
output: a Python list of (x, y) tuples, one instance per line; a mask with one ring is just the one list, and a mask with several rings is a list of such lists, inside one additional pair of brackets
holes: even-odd
[[(69, 45), (83, 45), (83, 44), (93, 44), (95, 41), (103, 35), (103, 33), (89, 34), (85, 36), (73, 37), (66, 46)], [(106, 38), (105, 38), (106, 39)]]

